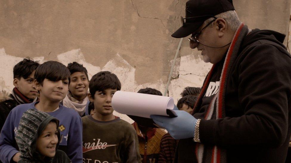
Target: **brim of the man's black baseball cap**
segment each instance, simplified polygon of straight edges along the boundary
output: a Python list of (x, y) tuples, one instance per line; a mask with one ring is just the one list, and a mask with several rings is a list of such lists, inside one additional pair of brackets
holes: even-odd
[(189, 36), (194, 31), (196, 31), (204, 21), (199, 21), (195, 23), (185, 23), (184, 26), (180, 27), (176, 32), (174, 32), (171, 36), (175, 38), (182, 38)]

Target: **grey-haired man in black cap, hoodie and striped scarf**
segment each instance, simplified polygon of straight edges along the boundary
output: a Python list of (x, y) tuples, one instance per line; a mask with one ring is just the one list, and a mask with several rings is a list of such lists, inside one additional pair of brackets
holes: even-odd
[(291, 134), (291, 57), (285, 35), (250, 30), (232, 0), (190, 0), (183, 26), (190, 48), (213, 64), (191, 116), (151, 115), (180, 139), (176, 162), (284, 162)]

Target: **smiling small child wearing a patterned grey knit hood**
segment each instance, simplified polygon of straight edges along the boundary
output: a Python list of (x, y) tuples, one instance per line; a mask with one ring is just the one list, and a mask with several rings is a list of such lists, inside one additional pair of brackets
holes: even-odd
[(70, 163), (66, 153), (58, 150), (58, 125), (59, 120), (47, 113), (25, 111), (15, 137), (21, 153), (18, 163)]

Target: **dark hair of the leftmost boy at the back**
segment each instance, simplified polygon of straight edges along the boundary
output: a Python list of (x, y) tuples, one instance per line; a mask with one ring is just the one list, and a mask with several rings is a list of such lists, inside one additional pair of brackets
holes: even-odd
[(34, 61), (29, 57), (24, 58), (13, 67), (13, 78), (20, 79), (23, 77), (24, 79), (27, 79), (38, 66), (38, 61)]

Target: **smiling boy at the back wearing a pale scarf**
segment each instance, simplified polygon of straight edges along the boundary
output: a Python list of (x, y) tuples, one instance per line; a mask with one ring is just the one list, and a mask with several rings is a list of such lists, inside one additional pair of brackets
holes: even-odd
[(85, 116), (85, 108), (88, 102), (88, 72), (82, 64), (77, 62), (69, 63), (67, 68), (71, 73), (69, 91), (61, 104), (76, 110), (83, 117)]

